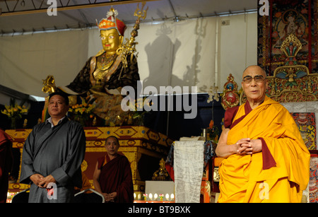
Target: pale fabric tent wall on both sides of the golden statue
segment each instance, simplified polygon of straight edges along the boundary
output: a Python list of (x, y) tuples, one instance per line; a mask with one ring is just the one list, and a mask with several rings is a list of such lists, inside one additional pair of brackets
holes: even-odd
[[(257, 13), (141, 23), (136, 41), (143, 86), (197, 86), (206, 93), (216, 83), (222, 91), (230, 73), (240, 85), (245, 67), (257, 64)], [(68, 85), (100, 49), (97, 29), (0, 37), (0, 84), (46, 96), (42, 79), (51, 74), (57, 86)]]

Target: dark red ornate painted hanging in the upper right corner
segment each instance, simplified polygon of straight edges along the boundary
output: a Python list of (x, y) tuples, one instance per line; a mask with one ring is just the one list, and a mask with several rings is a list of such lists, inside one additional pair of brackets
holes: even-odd
[(281, 45), (291, 34), (302, 44), (296, 57), (298, 64), (307, 66), (310, 74), (318, 73), (317, 1), (269, 0), (269, 16), (259, 13), (258, 64), (268, 76), (273, 76), (278, 66), (285, 65)]

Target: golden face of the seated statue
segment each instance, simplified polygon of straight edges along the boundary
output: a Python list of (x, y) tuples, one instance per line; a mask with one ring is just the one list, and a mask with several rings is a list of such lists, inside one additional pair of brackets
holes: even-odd
[(116, 52), (119, 45), (122, 44), (122, 36), (119, 36), (116, 29), (101, 30), (100, 39), (105, 52)]

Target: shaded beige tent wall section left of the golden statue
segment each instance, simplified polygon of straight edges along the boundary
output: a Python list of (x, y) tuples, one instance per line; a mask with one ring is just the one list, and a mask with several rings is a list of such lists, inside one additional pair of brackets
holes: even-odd
[(87, 50), (88, 31), (0, 37), (0, 84), (46, 96), (42, 79), (53, 75), (59, 86), (69, 84), (84, 66)]

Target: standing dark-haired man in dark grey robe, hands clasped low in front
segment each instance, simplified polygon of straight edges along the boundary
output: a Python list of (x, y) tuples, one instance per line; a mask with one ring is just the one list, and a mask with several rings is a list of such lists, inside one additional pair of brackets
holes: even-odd
[(23, 146), (20, 182), (31, 184), (29, 202), (71, 202), (81, 187), (86, 137), (81, 124), (66, 117), (69, 98), (49, 95), (45, 123), (37, 124)]

